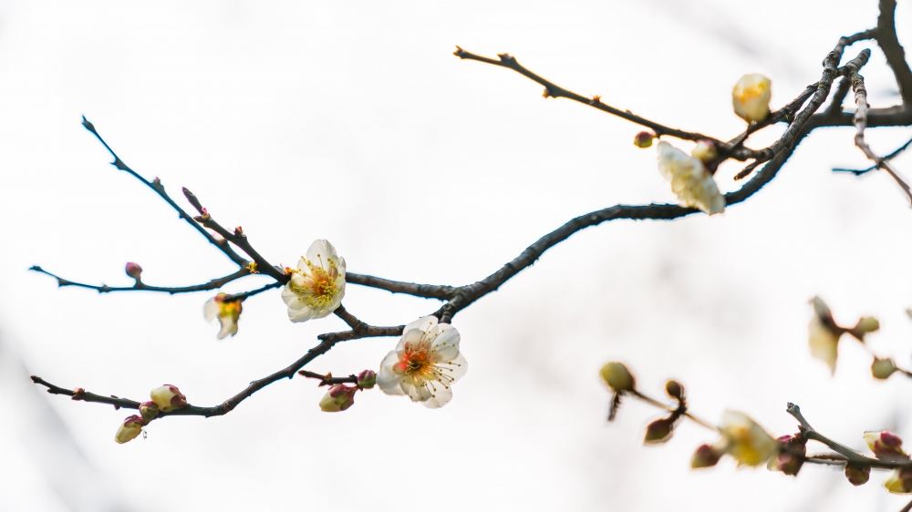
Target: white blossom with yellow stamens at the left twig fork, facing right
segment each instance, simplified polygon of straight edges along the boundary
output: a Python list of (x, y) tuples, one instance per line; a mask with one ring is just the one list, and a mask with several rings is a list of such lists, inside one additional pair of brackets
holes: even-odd
[(345, 296), (345, 259), (333, 244), (317, 240), (297, 262), (291, 281), (282, 289), (292, 322), (323, 318), (336, 311)]

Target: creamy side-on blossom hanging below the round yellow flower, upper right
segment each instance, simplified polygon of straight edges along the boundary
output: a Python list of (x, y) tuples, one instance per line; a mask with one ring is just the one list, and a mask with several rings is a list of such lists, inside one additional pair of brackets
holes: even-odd
[(681, 202), (710, 215), (725, 210), (725, 198), (700, 159), (690, 157), (664, 140), (656, 148), (658, 172), (671, 184), (671, 191)]

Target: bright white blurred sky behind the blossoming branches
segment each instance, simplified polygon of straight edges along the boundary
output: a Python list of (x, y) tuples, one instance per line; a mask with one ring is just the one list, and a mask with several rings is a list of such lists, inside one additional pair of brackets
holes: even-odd
[[(908, 45), (909, 5), (897, 17)], [(0, 330), (29, 372), (55, 384), (134, 399), (177, 384), (209, 405), (344, 328), (289, 323), (271, 292), (245, 302), (240, 333), (218, 342), (202, 320), (211, 293), (98, 295), (26, 271), (125, 285), (123, 265), (137, 261), (144, 281), (185, 285), (233, 270), (109, 166), (81, 115), (182, 204), (186, 186), (224, 226), (243, 225), (270, 261), (292, 265), (326, 238), (350, 271), (461, 284), (576, 215), (673, 197), (654, 150), (630, 144), (636, 126), (544, 100), (513, 72), (460, 61), (455, 45), (509, 52), (579, 93), (730, 138), (743, 127), (731, 113), (738, 77), (769, 74), (779, 107), (819, 79), (839, 36), (875, 19), (875, 0), (0, 3)], [(864, 74), (874, 106), (898, 101), (879, 51)], [(909, 132), (869, 138), (886, 153)], [(896, 164), (912, 176), (912, 157)], [(851, 129), (821, 131), (724, 215), (575, 235), (456, 317), (470, 371), (440, 410), (372, 391), (326, 415), (324, 390), (295, 378), (230, 415), (170, 418), (117, 445), (129, 413), (47, 399), (140, 512), (896, 510), (907, 499), (886, 494), (883, 473), (855, 488), (818, 466), (797, 478), (731, 461), (691, 472), (693, 449), (715, 435), (686, 424), (668, 445), (644, 447), (658, 412), (631, 401), (607, 425), (597, 377), (611, 359), (652, 394), (674, 376), (694, 413), (740, 409), (775, 435), (794, 432), (792, 401), (847, 445), (885, 427), (912, 439), (912, 382), (872, 382), (869, 356), (847, 340), (831, 378), (806, 347), (807, 300), (819, 293), (842, 323), (878, 316), (871, 345), (909, 365), (912, 212), (886, 176), (829, 170), (866, 165)], [(739, 169), (720, 169), (722, 189), (739, 186)], [(358, 286), (345, 303), (379, 325), (438, 307)], [(308, 368), (376, 369), (395, 343), (342, 343)], [(41, 473), (55, 461), (29, 445), (18, 403), (5, 404), (0, 481), (14, 485), (0, 510), (66, 510)]]

